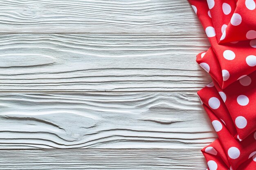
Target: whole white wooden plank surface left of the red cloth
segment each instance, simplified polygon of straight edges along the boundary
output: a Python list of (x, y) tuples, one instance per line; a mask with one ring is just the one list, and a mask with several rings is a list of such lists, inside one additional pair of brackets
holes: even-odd
[(186, 0), (0, 2), (1, 170), (206, 169)]

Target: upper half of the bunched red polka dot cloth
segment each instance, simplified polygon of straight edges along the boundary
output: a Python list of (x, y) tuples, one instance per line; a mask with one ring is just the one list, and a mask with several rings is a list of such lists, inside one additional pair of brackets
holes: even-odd
[[(199, 64), (218, 82), (219, 86), (224, 89), (241, 76), (256, 71), (256, 9), (252, 7), (248, 9), (245, 0), (237, 2), (236, 0), (189, 0), (189, 2), (211, 43), (211, 48), (200, 55), (204, 58), (204, 62)], [(250, 5), (253, 6), (253, 2)], [(234, 40), (246, 41), (233, 42)], [(218, 66), (215, 71), (209, 66), (211, 62), (215, 62)]]

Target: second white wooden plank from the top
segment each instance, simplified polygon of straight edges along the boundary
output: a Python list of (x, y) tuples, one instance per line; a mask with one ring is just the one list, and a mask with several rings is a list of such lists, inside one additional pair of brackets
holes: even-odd
[(0, 91), (198, 91), (204, 35), (0, 34)]

